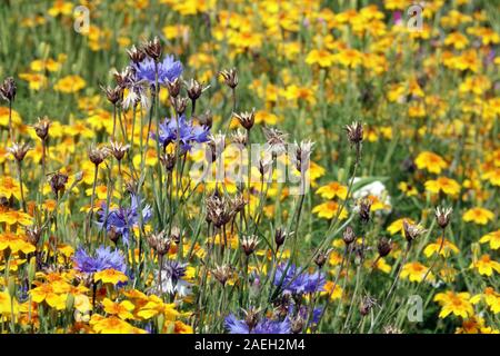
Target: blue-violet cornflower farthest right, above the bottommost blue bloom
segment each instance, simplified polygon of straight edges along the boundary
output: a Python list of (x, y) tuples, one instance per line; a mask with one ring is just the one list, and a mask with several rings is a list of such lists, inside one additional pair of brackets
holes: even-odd
[[(281, 279), (283, 280), (281, 281)], [(294, 265), (290, 265), (287, 269), (287, 266), (281, 264), (278, 266), (274, 277), (274, 286), (281, 286), (283, 291), (290, 294), (320, 291), (323, 290), (324, 284), (326, 277), (322, 273), (316, 271), (313, 274), (309, 274), (302, 271), (302, 274), (299, 275), (299, 271)]]

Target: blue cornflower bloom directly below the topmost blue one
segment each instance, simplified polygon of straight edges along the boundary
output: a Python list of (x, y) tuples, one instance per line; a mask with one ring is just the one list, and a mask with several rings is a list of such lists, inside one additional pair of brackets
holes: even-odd
[[(190, 150), (193, 142), (202, 144), (208, 141), (210, 128), (208, 126), (193, 126), (192, 120), (186, 120), (186, 116), (182, 115), (179, 118), (179, 123), (176, 119), (170, 118), (166, 118), (164, 121), (160, 123), (158, 129), (158, 141), (162, 147), (167, 147), (170, 142), (177, 141), (178, 126), (180, 132), (179, 141), (182, 150)], [(151, 137), (156, 139), (156, 134), (151, 132)]]

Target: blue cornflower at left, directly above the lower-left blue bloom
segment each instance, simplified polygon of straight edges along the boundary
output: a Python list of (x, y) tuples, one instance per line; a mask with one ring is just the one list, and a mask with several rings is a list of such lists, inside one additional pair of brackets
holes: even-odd
[[(132, 195), (130, 208), (122, 207), (110, 210), (106, 216), (106, 206), (99, 210), (99, 228), (106, 227), (106, 230), (113, 231), (123, 237), (123, 243), (129, 245), (129, 234), (133, 227), (139, 226), (139, 205), (137, 196)], [(151, 207), (147, 205), (142, 209), (142, 222), (151, 219)]]

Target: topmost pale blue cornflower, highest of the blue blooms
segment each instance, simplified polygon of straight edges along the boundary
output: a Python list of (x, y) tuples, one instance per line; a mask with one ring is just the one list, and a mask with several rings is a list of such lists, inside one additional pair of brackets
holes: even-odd
[[(151, 86), (156, 83), (154, 61), (147, 57), (139, 63), (131, 63), (136, 69), (136, 76), (139, 80), (149, 82)], [(162, 62), (158, 63), (158, 82), (166, 86), (169, 81), (173, 81), (182, 73), (182, 63), (174, 60), (173, 56), (166, 56)]]

